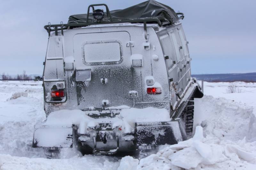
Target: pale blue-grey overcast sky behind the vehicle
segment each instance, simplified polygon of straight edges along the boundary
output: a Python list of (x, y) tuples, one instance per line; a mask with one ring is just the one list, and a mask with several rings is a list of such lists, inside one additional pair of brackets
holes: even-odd
[[(67, 23), (90, 4), (123, 9), (143, 0), (0, 0), (0, 73), (42, 74), (48, 22)], [(255, 0), (159, 0), (182, 20), (192, 74), (256, 72)], [(131, 11), (132, 12), (132, 11)]]

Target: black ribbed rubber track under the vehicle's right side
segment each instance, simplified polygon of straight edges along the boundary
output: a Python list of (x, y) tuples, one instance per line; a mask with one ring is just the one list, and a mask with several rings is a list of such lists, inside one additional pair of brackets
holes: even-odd
[(180, 116), (185, 124), (185, 130), (187, 138), (191, 138), (193, 135), (193, 123), (194, 123), (194, 97), (190, 97), (188, 104), (182, 111)]

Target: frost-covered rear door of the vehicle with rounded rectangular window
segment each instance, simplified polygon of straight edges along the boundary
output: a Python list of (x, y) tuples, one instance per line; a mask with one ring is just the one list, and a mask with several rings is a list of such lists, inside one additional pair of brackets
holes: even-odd
[(75, 60), (81, 57), (83, 62), (76, 63), (80, 66), (76, 67), (76, 72), (88, 73), (84, 80), (76, 80), (79, 109), (102, 107), (104, 102), (108, 106), (133, 105), (129, 98), (133, 83), (128, 41), (130, 34), (124, 31), (74, 36)]

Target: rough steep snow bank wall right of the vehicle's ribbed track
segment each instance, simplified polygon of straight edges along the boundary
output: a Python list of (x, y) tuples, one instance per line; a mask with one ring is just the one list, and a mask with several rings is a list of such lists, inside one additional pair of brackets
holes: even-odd
[(244, 103), (212, 96), (195, 100), (194, 124), (202, 125), (204, 136), (210, 135), (220, 140), (247, 141), (256, 138), (256, 119), (253, 107)]

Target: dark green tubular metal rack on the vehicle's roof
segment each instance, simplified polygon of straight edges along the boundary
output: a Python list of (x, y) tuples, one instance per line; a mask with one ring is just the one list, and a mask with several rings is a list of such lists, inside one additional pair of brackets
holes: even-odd
[[(90, 7), (92, 7), (92, 10), (94, 11), (94, 6), (105, 6), (107, 10), (107, 20), (105, 21), (89, 21), (89, 12)], [(180, 19), (184, 18), (184, 14), (181, 12), (176, 13), (177, 15), (181, 15), (173, 22), (177, 22)], [(110, 20), (108, 20), (110, 18)], [(167, 23), (163, 23), (160, 21), (159, 18), (136, 18), (136, 19), (119, 19), (119, 20), (113, 20), (112, 16), (109, 12), (108, 6), (106, 4), (92, 4), (88, 6), (87, 10), (87, 19), (86, 22), (83, 23), (69, 23), (69, 24), (63, 24), (62, 22), (60, 24), (51, 25), (51, 23), (48, 23), (48, 25), (44, 26), (44, 29), (48, 32), (48, 35), (50, 37), (51, 32), (55, 32), (55, 35), (58, 36), (58, 31), (61, 31), (61, 35), (63, 35), (63, 30), (77, 28), (77, 27), (84, 27), (88, 25), (102, 25), (102, 24), (120, 24), (120, 23), (143, 23), (144, 25), (144, 35), (145, 39), (148, 39), (147, 36), (147, 23), (156, 23), (159, 26), (162, 26), (164, 24), (169, 24), (170, 22), (167, 21)]]

